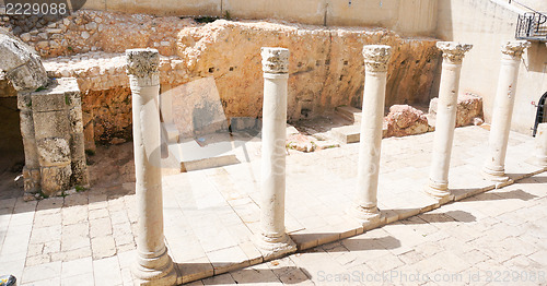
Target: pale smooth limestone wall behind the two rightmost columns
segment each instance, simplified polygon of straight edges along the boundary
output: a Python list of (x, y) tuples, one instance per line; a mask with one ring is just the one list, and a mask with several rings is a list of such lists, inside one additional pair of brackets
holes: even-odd
[[(487, 122), (493, 109), (501, 44), (514, 39), (516, 19), (522, 12), (524, 10), (501, 0), (439, 0), (438, 37), (474, 45), (464, 59), (461, 92), (482, 96)], [(514, 131), (531, 133), (536, 115), (531, 102), (537, 102), (547, 91), (545, 62), (547, 47), (544, 43), (533, 43), (521, 63), (512, 121)]]

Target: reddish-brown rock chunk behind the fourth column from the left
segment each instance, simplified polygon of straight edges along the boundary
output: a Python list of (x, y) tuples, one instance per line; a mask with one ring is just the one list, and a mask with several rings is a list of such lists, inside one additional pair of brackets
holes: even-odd
[[(431, 99), (429, 104), (429, 124), (434, 128), (434, 121), (437, 118), (437, 106), (439, 97)], [(457, 98), (457, 109), (456, 109), (456, 127), (465, 126), (479, 126), (484, 122), (482, 119), (482, 97), (474, 94), (461, 94)]]

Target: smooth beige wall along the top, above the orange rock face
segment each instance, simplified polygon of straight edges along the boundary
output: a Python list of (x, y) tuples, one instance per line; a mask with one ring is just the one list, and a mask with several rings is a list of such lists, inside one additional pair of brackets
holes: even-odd
[(278, 19), (314, 25), (383, 26), (432, 35), (438, 0), (88, 0), (84, 8), (177, 16)]

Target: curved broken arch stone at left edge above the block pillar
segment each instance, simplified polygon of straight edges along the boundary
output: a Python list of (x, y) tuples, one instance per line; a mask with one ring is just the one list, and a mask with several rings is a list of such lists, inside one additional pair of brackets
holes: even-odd
[(39, 56), (4, 28), (0, 28), (0, 71), (16, 91), (46, 85), (47, 74)]

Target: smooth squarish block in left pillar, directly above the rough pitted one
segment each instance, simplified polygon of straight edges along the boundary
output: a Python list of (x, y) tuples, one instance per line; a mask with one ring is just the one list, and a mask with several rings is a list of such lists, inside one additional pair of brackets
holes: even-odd
[(69, 138), (68, 110), (34, 112), (34, 130), (36, 140), (46, 138)]

